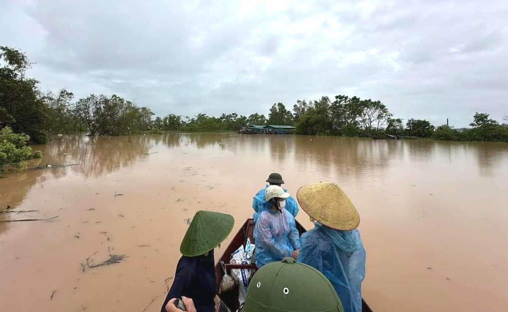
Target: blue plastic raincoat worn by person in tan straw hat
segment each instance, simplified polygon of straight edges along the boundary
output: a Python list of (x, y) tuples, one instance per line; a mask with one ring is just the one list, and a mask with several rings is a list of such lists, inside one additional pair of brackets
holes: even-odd
[(339, 295), (344, 312), (362, 311), (361, 284), (365, 278), (365, 249), (360, 232), (339, 231), (315, 222), (302, 234), (298, 262), (320, 270)]

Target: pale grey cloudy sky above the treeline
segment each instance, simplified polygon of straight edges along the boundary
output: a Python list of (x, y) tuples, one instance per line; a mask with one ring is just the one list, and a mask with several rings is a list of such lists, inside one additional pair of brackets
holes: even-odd
[(356, 95), (401, 118), (508, 115), (508, 1), (0, 0), (43, 90), (175, 113)]

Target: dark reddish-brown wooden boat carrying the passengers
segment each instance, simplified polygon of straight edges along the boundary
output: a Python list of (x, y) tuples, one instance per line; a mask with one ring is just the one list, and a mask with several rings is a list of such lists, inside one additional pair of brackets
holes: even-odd
[[(300, 235), (302, 233), (306, 232), (306, 229), (296, 222), (296, 227), (298, 231), (300, 232)], [(233, 264), (229, 263), (231, 254), (235, 252), (240, 245), (245, 246), (245, 242), (247, 241), (247, 238), (250, 238), (250, 241), (256, 244), (253, 237), (254, 233), (254, 220), (247, 219), (243, 226), (240, 228), (238, 233), (236, 233), (235, 237), (233, 237), (233, 240), (231, 241), (231, 244), (226, 248), (224, 251), (224, 254), (218, 259), (217, 264), (215, 265), (215, 277), (217, 280), (217, 294), (219, 290), (220, 281), (223, 278), (224, 272), (223, 269), (220, 267), (220, 261), (224, 261), (226, 264), (226, 271), (228, 274), (231, 275), (230, 270), (231, 269), (253, 269), (257, 270), (258, 268), (254, 264)], [(235, 288), (234, 291), (226, 293), (226, 294), (219, 294), (218, 295), (224, 303), (229, 307), (231, 312), (235, 312), (238, 309), (238, 288)], [(369, 305), (365, 302), (365, 300), (362, 298), (362, 312), (372, 312), (372, 309), (369, 307)]]

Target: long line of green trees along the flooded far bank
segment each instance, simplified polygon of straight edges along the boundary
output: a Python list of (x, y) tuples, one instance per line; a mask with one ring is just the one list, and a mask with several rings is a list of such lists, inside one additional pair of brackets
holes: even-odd
[(0, 67), (0, 128), (9, 126), (15, 133), (25, 133), (28, 136), (23, 137), (29, 137), (27, 140), (34, 143), (45, 143), (56, 133), (85, 131), (89, 135), (129, 135), (158, 131), (236, 131), (247, 125), (265, 124), (294, 125), (297, 134), (309, 135), (383, 137), (388, 133), (407, 138), (508, 142), (508, 116), (500, 124), (489, 114), (476, 113), (471, 128), (434, 127), (427, 120), (409, 119), (404, 123), (394, 118), (378, 100), (346, 95), (297, 100), (292, 110), (277, 102), (267, 117), (259, 113), (154, 117), (150, 109), (114, 94), (90, 94), (74, 100), (74, 94), (66, 89), (57, 94), (43, 93), (37, 80), (25, 77), (31, 63), (17, 49), (0, 47), (0, 61), (4, 63)]

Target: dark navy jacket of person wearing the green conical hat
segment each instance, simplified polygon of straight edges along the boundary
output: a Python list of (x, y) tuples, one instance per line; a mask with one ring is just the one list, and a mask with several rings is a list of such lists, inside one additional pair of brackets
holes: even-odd
[(215, 287), (213, 250), (208, 256), (182, 256), (176, 266), (175, 279), (161, 312), (166, 312), (166, 304), (170, 299), (182, 296), (193, 299), (198, 312), (213, 312)]

